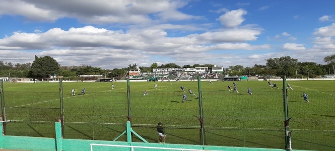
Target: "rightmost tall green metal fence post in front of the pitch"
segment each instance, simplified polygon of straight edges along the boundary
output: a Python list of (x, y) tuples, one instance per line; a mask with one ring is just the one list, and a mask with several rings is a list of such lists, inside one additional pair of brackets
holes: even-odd
[(285, 128), (285, 149), (286, 150), (292, 150), (291, 145), (291, 131), (289, 126), (289, 106), (287, 102), (287, 83), (286, 83), (286, 75), (284, 75), (283, 78), (283, 102), (284, 102), (284, 128)]

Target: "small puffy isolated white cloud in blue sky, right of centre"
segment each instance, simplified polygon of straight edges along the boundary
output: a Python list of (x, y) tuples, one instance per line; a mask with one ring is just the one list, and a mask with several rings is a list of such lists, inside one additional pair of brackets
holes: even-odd
[(217, 21), (220, 21), (226, 27), (237, 27), (244, 22), (243, 15), (245, 14), (247, 14), (247, 11), (243, 9), (233, 10), (221, 15)]

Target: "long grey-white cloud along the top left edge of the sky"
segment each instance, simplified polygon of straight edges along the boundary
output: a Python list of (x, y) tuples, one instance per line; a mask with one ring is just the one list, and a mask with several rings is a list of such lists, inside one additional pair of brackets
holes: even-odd
[(153, 24), (157, 21), (201, 18), (179, 12), (178, 9), (187, 4), (183, 1), (3, 0), (1, 3), (0, 15), (20, 15), (28, 20), (44, 22), (66, 17), (88, 24)]

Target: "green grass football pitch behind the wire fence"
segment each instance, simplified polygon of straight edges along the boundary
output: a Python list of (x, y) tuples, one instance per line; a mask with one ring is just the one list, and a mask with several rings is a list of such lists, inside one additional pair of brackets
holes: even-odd
[[(206, 144), (284, 148), (282, 81), (202, 82)], [(294, 149), (335, 150), (335, 82), (288, 81), (290, 128)], [(158, 89), (154, 89), (154, 85)], [(171, 85), (172, 84), (172, 85)], [(64, 138), (113, 140), (125, 130), (126, 83), (63, 83)], [(186, 92), (179, 87), (184, 86)], [(252, 95), (246, 93), (246, 88)], [(76, 96), (71, 95), (71, 89)], [(83, 88), (86, 94), (80, 95)], [(131, 124), (149, 142), (157, 142), (162, 122), (166, 143), (200, 144), (197, 82), (130, 82)], [(143, 96), (147, 90), (149, 95)], [(308, 94), (310, 103), (303, 100)], [(188, 100), (181, 103), (182, 94)], [(59, 83), (4, 83), (8, 135), (55, 137)], [(117, 141), (126, 141), (121, 136)], [(133, 141), (141, 141), (134, 136)]]

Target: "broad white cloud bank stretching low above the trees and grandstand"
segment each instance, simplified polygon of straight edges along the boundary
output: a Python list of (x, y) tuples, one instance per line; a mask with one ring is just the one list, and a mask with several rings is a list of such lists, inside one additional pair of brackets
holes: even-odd
[[(61, 65), (86, 64), (105, 68), (124, 67), (129, 62), (138, 64), (164, 62), (166, 58), (183, 62), (178, 59), (189, 54), (192, 54), (192, 57), (187, 60), (194, 61), (194, 58), (199, 58), (198, 63), (202, 62), (200, 61), (202, 58), (212, 60), (213, 56), (216, 58), (213, 61), (221, 62), (220, 55), (212, 54), (211, 51), (271, 49), (267, 44), (245, 43), (256, 40), (259, 34), (260, 31), (254, 29), (227, 29), (168, 37), (165, 30), (156, 27), (123, 32), (85, 26), (69, 30), (53, 28), (42, 33), (14, 33), (12, 36), (0, 39), (0, 49), (11, 51), (13, 55), (19, 54), (15, 50), (26, 50), (23, 53), (25, 55), (21, 56), (20, 53), (16, 57), (26, 57), (22, 59), (24, 61), (29, 60), (30, 56), (27, 62), (32, 62), (34, 55), (50, 55)], [(101, 62), (104, 62), (104, 65), (101, 65)]]

